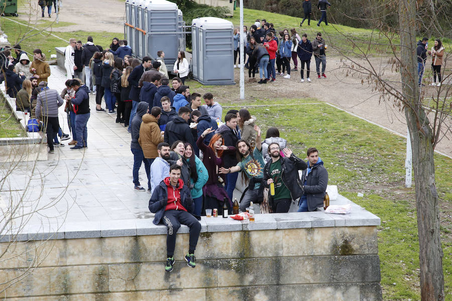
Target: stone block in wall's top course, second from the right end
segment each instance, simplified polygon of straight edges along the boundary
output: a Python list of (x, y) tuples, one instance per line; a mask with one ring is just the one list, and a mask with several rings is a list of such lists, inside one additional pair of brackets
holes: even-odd
[(334, 227), (283, 230), (284, 256), (338, 255)]

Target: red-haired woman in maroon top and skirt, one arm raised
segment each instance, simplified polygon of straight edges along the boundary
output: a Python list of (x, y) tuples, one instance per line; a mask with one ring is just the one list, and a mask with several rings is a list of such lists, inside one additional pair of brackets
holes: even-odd
[[(223, 203), (224, 199), (227, 199), (227, 206), (229, 209), (232, 208), (232, 202), (228, 197), (228, 193), (224, 189), (223, 183), (225, 181), (225, 175), (218, 174), (220, 167), (223, 167), (224, 154), (235, 153), (236, 148), (234, 146), (226, 146), (223, 144), (223, 137), (221, 134), (214, 134), (210, 138), (209, 145), (204, 144), (204, 138), (209, 133), (213, 132), (214, 129), (211, 127), (204, 130), (204, 132), (199, 136), (196, 141), (199, 149), (202, 151), (203, 158), (202, 163), (204, 164), (207, 172), (209, 174), (209, 179), (207, 183), (202, 188), (204, 195), (204, 209), (218, 209), (218, 215), (223, 213)], [(220, 179), (222, 180), (220, 183)], [(203, 212), (204, 215), (205, 212)]]

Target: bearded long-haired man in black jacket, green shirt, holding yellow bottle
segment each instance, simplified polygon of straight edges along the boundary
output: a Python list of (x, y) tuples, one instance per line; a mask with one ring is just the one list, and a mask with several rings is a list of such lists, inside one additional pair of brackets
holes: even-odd
[(303, 195), (303, 185), (299, 183), (298, 171), (305, 170), (307, 164), (292, 154), (292, 150), (283, 149), (285, 157), (281, 157), (279, 144), (276, 142), (268, 145), (269, 160), (264, 168), (262, 185), (269, 187), (271, 183), (275, 186), (274, 195), (269, 196), (269, 205), (274, 213), (288, 212), (292, 200)]

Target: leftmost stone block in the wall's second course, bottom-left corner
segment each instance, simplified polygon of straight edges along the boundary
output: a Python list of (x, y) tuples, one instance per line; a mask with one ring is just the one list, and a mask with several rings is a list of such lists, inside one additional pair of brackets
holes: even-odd
[(0, 284), (0, 290), (5, 289), (8, 283), (11, 283), (11, 281), (16, 281), (17, 279), (21, 279), (23, 277), (14, 285), (7, 288), (5, 295), (9, 297), (49, 295), (49, 275), (52, 269), (53, 268), (48, 267), (38, 268), (35, 269), (33, 273), (30, 273), (30, 270), (27, 269), (2, 270), (2, 283), (6, 283)]

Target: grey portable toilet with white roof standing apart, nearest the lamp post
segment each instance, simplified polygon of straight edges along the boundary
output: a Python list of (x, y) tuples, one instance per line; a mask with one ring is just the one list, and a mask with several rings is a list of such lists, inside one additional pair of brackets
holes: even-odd
[(192, 24), (192, 64), (197, 71), (196, 80), (203, 85), (235, 84), (234, 25), (214, 17), (198, 18)]

